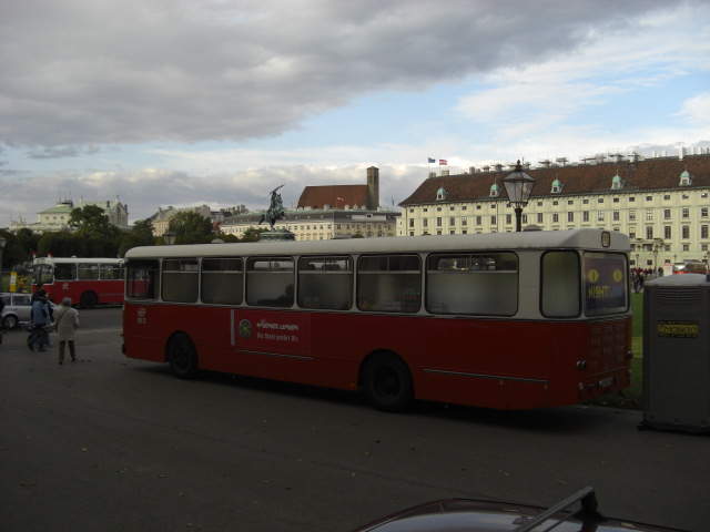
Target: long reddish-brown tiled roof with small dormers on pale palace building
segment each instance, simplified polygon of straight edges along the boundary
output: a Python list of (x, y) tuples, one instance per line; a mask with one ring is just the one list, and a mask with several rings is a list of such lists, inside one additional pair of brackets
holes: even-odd
[[(536, 181), (530, 200), (535, 197), (570, 196), (607, 193), (647, 192), (660, 190), (710, 187), (710, 155), (679, 157), (653, 157), (638, 161), (598, 164), (551, 166), (524, 170)], [(689, 185), (680, 186), (681, 174), (688, 172)], [(501, 185), (513, 170), (476, 172), (474, 174), (443, 175), (427, 178), (414, 193), (399, 203), (400, 206), (433, 204), (437, 191), (446, 191), (446, 202), (499, 201), (491, 196), (491, 185)], [(612, 188), (615, 176), (620, 177), (621, 187)], [(564, 187), (552, 193), (556, 180)], [(617, 180), (618, 182), (619, 180)], [(558, 184), (558, 185), (559, 185)], [(617, 185), (618, 186), (618, 185)], [(500, 188), (503, 191), (503, 187)], [(440, 200), (439, 200), (440, 201)]]

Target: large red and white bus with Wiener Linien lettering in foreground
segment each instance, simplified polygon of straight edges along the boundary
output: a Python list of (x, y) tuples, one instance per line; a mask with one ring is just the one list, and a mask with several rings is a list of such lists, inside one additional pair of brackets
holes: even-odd
[(578, 403), (630, 381), (628, 250), (599, 229), (135, 247), (123, 349), (389, 411)]

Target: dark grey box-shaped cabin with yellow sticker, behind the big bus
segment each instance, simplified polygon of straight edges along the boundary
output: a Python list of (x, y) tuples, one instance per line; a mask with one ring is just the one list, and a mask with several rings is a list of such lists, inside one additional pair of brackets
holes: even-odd
[(682, 274), (643, 286), (640, 428), (710, 431), (710, 280)]

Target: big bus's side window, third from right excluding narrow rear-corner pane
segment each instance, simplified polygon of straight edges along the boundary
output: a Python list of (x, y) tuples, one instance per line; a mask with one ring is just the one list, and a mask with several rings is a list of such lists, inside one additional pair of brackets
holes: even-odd
[(353, 306), (351, 257), (304, 257), (298, 262), (298, 306), (345, 310)]

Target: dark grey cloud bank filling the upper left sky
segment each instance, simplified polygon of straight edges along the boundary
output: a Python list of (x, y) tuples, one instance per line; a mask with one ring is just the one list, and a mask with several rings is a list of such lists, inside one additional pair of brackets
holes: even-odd
[(375, 91), (567, 53), (660, 0), (26, 0), (0, 17), (0, 143), (243, 141)]

